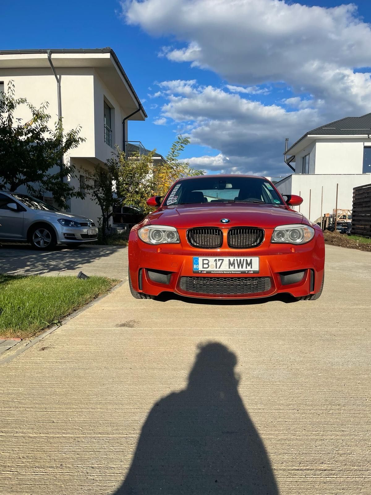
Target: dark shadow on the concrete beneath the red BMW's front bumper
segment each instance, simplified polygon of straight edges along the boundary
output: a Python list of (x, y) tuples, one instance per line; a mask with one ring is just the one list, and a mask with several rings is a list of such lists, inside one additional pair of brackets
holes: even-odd
[(271, 297), (257, 297), (254, 299), (203, 299), (201, 297), (184, 297), (172, 292), (163, 292), (159, 296), (154, 298), (158, 302), (169, 302), (169, 301), (183, 301), (188, 304), (206, 304), (214, 306), (246, 306), (254, 304), (264, 304), (273, 301), (284, 302), (285, 304), (290, 304), (292, 302), (297, 302), (295, 297), (290, 294), (277, 294)]

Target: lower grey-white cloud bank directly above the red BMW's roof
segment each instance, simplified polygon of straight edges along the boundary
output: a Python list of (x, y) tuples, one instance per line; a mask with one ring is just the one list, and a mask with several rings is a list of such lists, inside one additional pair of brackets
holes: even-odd
[(264, 105), (212, 86), (193, 85), (187, 96), (168, 94), (168, 88), (184, 85), (162, 83), (167, 102), (162, 115), (178, 123), (192, 144), (219, 149), (212, 157), (192, 158), (192, 166), (207, 170), (257, 173), (276, 176), (287, 173), (282, 152), (284, 139), (304, 134), (319, 125), (318, 110), (293, 112), (277, 104)]

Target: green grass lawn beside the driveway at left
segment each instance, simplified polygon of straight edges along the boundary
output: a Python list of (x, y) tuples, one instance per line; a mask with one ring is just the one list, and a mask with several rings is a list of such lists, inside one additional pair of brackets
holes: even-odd
[(0, 336), (33, 337), (117, 282), (105, 277), (80, 280), (0, 274)]

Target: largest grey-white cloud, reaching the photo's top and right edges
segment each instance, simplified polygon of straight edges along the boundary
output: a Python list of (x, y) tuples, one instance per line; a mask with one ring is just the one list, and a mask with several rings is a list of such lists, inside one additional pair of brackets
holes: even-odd
[[(357, 7), (309, 7), (278, 0), (127, 0), (123, 15), (157, 36), (175, 36), (181, 48), (169, 60), (208, 68), (232, 84), (286, 82), (297, 93), (362, 114), (371, 97), (370, 25)], [(241, 20), (243, 19), (243, 22)], [(339, 98), (342, 99), (340, 104)]]

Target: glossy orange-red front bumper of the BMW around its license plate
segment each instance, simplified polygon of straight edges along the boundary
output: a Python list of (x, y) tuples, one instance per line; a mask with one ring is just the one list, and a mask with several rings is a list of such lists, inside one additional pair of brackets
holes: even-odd
[[(313, 240), (302, 246), (270, 244), (267, 238), (270, 239), (269, 236), (266, 236), (266, 240), (260, 247), (251, 249), (226, 249), (222, 247), (205, 250), (185, 246), (183, 242), (183, 246), (181, 244), (151, 246), (143, 243), (138, 238), (137, 232), (132, 230), (129, 238), (129, 271), (133, 288), (137, 292), (152, 296), (158, 296), (162, 292), (174, 292), (182, 296), (216, 299), (269, 297), (279, 293), (303, 297), (320, 292), (325, 263), (325, 244), (322, 232), (316, 231)], [(193, 256), (259, 256), (259, 273), (193, 273)], [(160, 274), (159, 277), (154, 277), (152, 270), (162, 271), (164, 275), (161, 276)], [(293, 283), (290, 282), (295, 277), (290, 278), (285, 275), (282, 277), (282, 274), (286, 272), (299, 271), (302, 272), (302, 278), (299, 277), (300, 280)], [(187, 283), (185, 283), (185, 277)], [(201, 294), (200, 292), (185, 290), (185, 287), (187, 289), (190, 287), (189, 277), (250, 278), (251, 285), (258, 283), (263, 290), (251, 292), (249, 289), (248, 293), (244, 292), (243, 294), (216, 294), (215, 291), (213, 294)], [(269, 278), (270, 283), (261, 284), (262, 280), (258, 279), (263, 278), (265, 281)], [(241, 280), (236, 280), (235, 285), (240, 283)]]

